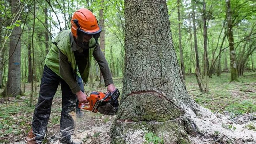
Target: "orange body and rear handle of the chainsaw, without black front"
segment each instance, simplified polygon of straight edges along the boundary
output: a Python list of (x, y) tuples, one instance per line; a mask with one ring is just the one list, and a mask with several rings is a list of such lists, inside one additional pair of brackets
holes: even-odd
[[(90, 110), (92, 112), (98, 112), (97, 110), (94, 110), (93, 111), (93, 108), (95, 106), (95, 104), (103, 99), (105, 97), (105, 93), (103, 92), (92, 92), (90, 94), (89, 97), (87, 97), (87, 100), (88, 100), (88, 103), (79, 103), (78, 107), (81, 108), (81, 109), (85, 109), (85, 110)], [(108, 101), (110, 99), (110, 97), (108, 97), (106, 100), (104, 101)]]

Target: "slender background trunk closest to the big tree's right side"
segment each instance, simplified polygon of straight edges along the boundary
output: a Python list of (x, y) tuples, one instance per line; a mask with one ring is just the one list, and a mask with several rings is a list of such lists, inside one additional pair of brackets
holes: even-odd
[(183, 61), (183, 51), (181, 45), (181, 30), (180, 30), (180, 0), (177, 0), (178, 4), (178, 21), (179, 21), (179, 48), (180, 48), (180, 65), (183, 78), (185, 79), (185, 68), (184, 68), (184, 61)]

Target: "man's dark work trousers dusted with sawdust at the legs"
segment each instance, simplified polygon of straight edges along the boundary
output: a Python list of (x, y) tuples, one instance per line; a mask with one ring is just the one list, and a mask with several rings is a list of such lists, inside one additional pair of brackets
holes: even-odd
[[(78, 78), (77, 81), (81, 82), (80, 84), (82, 87), (80, 87), (84, 91), (81, 77)], [(35, 140), (38, 143), (42, 143), (44, 140), (49, 116), (51, 113), (52, 99), (57, 91), (59, 82), (61, 84), (62, 92), (62, 110), (60, 117), (60, 131), (62, 133), (62, 138), (69, 139), (70, 136), (74, 134), (75, 123), (69, 113), (75, 111), (77, 97), (71, 92), (68, 84), (45, 65), (40, 84), (38, 103), (34, 111), (32, 122), (32, 130), (36, 136)]]

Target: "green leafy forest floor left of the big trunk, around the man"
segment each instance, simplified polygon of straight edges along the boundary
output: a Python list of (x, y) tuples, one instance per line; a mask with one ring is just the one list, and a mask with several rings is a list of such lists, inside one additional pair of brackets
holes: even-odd
[[(122, 78), (114, 78), (114, 83), (119, 91), (122, 91)], [(88, 95), (92, 91), (106, 92), (107, 88), (98, 88), (98, 83), (94, 84), (94, 87), (90, 87), (90, 84), (85, 85), (85, 90)], [(31, 128), (31, 122), (33, 118), (33, 112), (36, 107), (38, 100), (39, 85), (37, 83), (37, 91), (34, 92), (33, 103), (30, 104), (30, 93), (31, 84), (26, 84), (25, 96), (17, 96), (16, 98), (8, 97), (7, 108), (6, 108), (6, 98), (0, 97), (0, 143), (10, 143), (11, 141), (20, 141), (27, 135)], [(23, 88), (23, 84), (22, 84)], [(3, 91), (4, 89), (1, 89)], [(121, 97), (121, 96), (120, 96)], [(52, 103), (51, 116), (49, 119), (47, 131), (56, 132), (59, 130), (60, 116), (61, 116), (61, 88), (59, 87)], [(95, 117), (100, 117), (100, 114), (93, 115)], [(104, 122), (108, 122), (109, 119), (105, 119)]]

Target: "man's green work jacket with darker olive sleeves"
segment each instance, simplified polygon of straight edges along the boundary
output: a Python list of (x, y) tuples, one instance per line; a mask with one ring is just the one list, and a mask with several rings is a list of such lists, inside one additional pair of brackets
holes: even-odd
[[(105, 77), (104, 77), (105, 85), (113, 84), (112, 76), (111, 76), (111, 73), (110, 73), (110, 70), (108, 68), (108, 64), (107, 64), (107, 61), (106, 61), (104, 55), (102, 54), (101, 50), (100, 50), (100, 52), (99, 51), (95, 52), (96, 49), (97, 50), (100, 49), (98, 44), (97, 44), (97, 46), (95, 46), (96, 48), (94, 47), (94, 48), (89, 49), (89, 56), (87, 57), (86, 60), (84, 60), (84, 64), (86, 64), (86, 66), (83, 67), (84, 69), (82, 69), (82, 70), (80, 68), (80, 72), (79, 72), (78, 66), (76, 64), (74, 51), (71, 48), (72, 47), (71, 42), (73, 42), (73, 37), (70, 36), (70, 32), (71, 32), (71, 30), (63, 30), (54, 39), (54, 41), (52, 42), (54, 45), (52, 46), (52, 48), (50, 49), (50, 51), (48, 52), (48, 54), (46, 56), (45, 64), (53, 72), (55, 72), (58, 76), (60, 76), (62, 79), (64, 79), (66, 81), (65, 78), (67, 77), (67, 75), (65, 75), (65, 73), (67, 73), (66, 72), (67, 70), (65, 70), (65, 72), (60, 71), (60, 60), (62, 60), (62, 59), (60, 59), (59, 57), (61, 55), (64, 55), (67, 58), (67, 61), (68, 61), (68, 62), (66, 62), (67, 64), (65, 64), (65, 65), (69, 65), (69, 67), (71, 66), (70, 69), (72, 69), (73, 81), (76, 80), (77, 76), (81, 76), (83, 81), (86, 83), (87, 79), (88, 79), (88, 75), (89, 75), (89, 68), (90, 68), (90, 65), (91, 65), (90, 64), (91, 63), (91, 58), (92, 58), (92, 55), (93, 55), (94, 57), (96, 56), (96, 58), (95, 58), (96, 60), (97, 60), (97, 57), (99, 57), (97, 62), (100, 66), (100, 70), (102, 71), (103, 77), (105, 75)], [(89, 46), (95, 45), (95, 43), (96, 43), (95, 39), (92, 38), (89, 41)], [(97, 53), (100, 53), (100, 54), (97, 54)], [(83, 61), (82, 61), (82, 63), (83, 63)], [(63, 77), (63, 75), (64, 75), (64, 77)], [(79, 86), (77, 84), (75, 84), (74, 82), (70, 83), (70, 84), (67, 82), (67, 84), (70, 86), (73, 93), (80, 90)]]

